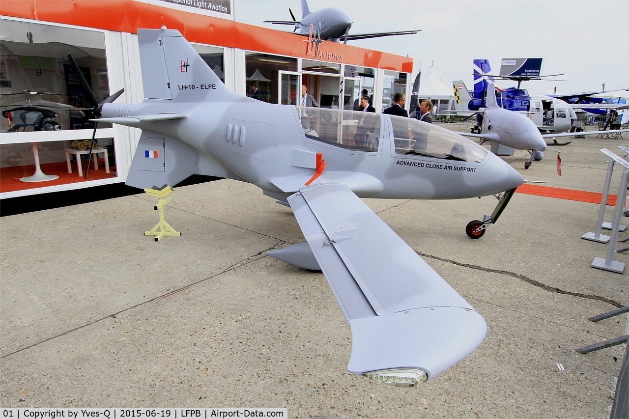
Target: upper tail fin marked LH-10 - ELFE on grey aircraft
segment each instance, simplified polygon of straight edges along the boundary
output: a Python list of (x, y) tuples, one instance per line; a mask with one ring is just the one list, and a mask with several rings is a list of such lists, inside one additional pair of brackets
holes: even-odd
[(138, 42), (145, 99), (198, 103), (235, 96), (179, 31), (139, 29)]

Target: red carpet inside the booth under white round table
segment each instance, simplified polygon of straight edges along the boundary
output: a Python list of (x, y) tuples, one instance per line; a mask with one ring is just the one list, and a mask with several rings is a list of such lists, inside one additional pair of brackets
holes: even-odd
[[(42, 164), (42, 172), (45, 174), (57, 175), (58, 179), (45, 182), (20, 182), (20, 177), (31, 176), (35, 173), (35, 165), (3, 167), (0, 170), (0, 193), (21, 191), (23, 189), (33, 189), (36, 187), (65, 185), (76, 182), (94, 181), (96, 179), (111, 179), (116, 177), (116, 167), (109, 167), (109, 173), (105, 172), (103, 159), (98, 159), (98, 170), (94, 170), (94, 163), (91, 164), (87, 179), (79, 177), (76, 162), (72, 162), (72, 173), (68, 173), (68, 165), (65, 162)], [(83, 174), (85, 174), (86, 162), (83, 162)]]

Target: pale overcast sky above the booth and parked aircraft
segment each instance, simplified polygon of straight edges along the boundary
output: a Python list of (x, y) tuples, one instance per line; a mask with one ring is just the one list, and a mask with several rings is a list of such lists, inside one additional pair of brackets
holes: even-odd
[[(353, 20), (350, 33), (417, 30), (416, 35), (350, 41), (357, 47), (413, 58), (413, 79), (433, 70), (447, 85), (472, 89), (472, 60), (489, 59), (493, 74), (508, 58), (543, 58), (542, 75), (527, 81), (530, 93), (570, 94), (629, 88), (629, 0), (309, 0), (310, 11), (337, 8)], [(235, 20), (262, 23), (301, 18), (301, 0), (234, 0)], [(498, 87), (515, 86), (498, 81)]]

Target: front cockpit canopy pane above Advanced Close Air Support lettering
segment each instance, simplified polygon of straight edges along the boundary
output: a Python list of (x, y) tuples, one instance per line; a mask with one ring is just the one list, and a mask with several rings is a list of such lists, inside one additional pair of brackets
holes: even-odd
[(387, 116), (391, 118), (397, 154), (477, 163), (487, 157), (486, 148), (450, 130), (403, 116)]

